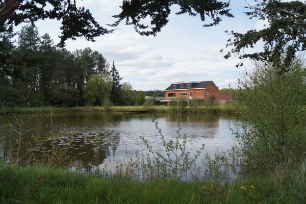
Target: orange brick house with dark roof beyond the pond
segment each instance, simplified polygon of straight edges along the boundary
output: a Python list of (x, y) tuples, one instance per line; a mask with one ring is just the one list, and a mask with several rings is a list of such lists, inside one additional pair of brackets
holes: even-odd
[(218, 87), (213, 81), (173, 82), (164, 91), (165, 99), (161, 101), (167, 102), (168, 106), (169, 101), (180, 98), (186, 98), (188, 104), (191, 99), (198, 99), (200, 100), (200, 105), (205, 104), (206, 101), (211, 101), (213, 98), (216, 104), (219, 99)]

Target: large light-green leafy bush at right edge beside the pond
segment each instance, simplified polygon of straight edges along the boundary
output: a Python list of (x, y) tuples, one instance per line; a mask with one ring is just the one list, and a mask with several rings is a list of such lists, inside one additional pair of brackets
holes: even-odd
[(236, 137), (249, 168), (273, 170), (301, 162), (306, 148), (306, 72), (294, 61), (287, 72), (257, 63), (240, 81), (246, 124)]

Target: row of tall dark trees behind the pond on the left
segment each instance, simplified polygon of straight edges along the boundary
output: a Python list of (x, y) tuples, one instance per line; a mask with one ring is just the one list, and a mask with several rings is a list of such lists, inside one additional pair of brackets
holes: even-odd
[[(15, 36), (17, 37), (17, 40)], [(141, 105), (144, 93), (133, 90), (115, 63), (91, 48), (73, 52), (54, 45), (32, 25), (18, 34), (1, 33), (0, 105), (101, 106)]]

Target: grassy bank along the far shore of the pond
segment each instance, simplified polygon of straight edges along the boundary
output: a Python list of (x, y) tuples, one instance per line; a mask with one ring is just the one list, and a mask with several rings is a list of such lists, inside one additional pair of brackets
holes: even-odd
[[(53, 112), (105, 112), (105, 107), (74, 107), (74, 108), (64, 108), (64, 107), (4, 107), (0, 109), (0, 114), (13, 114), (13, 113), (49, 113)], [(146, 110), (143, 106), (113, 106), (111, 111), (140, 111)], [(149, 112), (156, 113), (172, 113), (176, 110), (169, 106), (151, 106), (148, 109)], [(241, 112), (240, 108), (237, 106), (200, 106), (197, 109), (192, 109), (187, 107), (184, 111), (185, 113), (199, 113), (199, 114), (239, 114)]]

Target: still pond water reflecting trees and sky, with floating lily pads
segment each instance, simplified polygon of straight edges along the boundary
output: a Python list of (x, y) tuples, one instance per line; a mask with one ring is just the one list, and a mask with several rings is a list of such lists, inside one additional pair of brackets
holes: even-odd
[[(126, 156), (132, 156), (136, 150), (145, 151), (145, 145), (140, 139), (144, 136), (157, 151), (163, 151), (155, 123), (158, 121), (166, 139), (174, 138), (179, 118), (171, 114), (135, 114), (120, 113), (55, 113), (36, 115), (24, 125), (22, 144), (31, 141), (31, 136), (43, 136), (52, 130), (60, 133), (60, 137), (52, 146), (62, 146), (69, 149), (69, 157), (73, 164), (84, 171), (98, 167), (110, 161), (124, 161)], [(23, 120), (29, 118), (23, 115)], [(14, 123), (14, 116), (1, 116), (0, 125)], [(214, 154), (216, 150), (226, 151), (233, 144), (230, 129), (236, 129), (239, 119), (233, 116), (183, 115), (181, 116), (181, 134), (187, 134), (187, 148), (194, 153), (205, 144), (205, 152)], [(16, 137), (12, 131), (2, 128), (2, 146), (9, 138)], [(15, 134), (15, 136), (14, 136)], [(5, 147), (0, 149), (4, 151)], [(3, 156), (3, 152), (1, 154)], [(13, 154), (14, 155), (14, 154)], [(72, 166), (73, 167), (73, 166)]]

